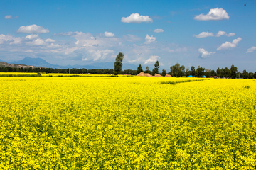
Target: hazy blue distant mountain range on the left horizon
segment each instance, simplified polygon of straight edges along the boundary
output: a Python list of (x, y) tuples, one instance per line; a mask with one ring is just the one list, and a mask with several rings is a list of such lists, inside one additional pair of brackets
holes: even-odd
[[(1, 61), (1, 60), (0, 60)], [(53, 69), (70, 69), (75, 68), (75, 69), (114, 69), (114, 62), (95, 62), (92, 64), (88, 65), (57, 65), (57, 64), (50, 64), (46, 62), (46, 60), (43, 60), (41, 58), (31, 58), (31, 57), (25, 57), (23, 60), (19, 60), (16, 62), (12, 62), (12, 64), (25, 64), (25, 65), (30, 65), (34, 67), (47, 67), (47, 68), (53, 68)], [(137, 70), (137, 65), (134, 64), (123, 64), (123, 70), (124, 69), (132, 69), (132, 70)]]

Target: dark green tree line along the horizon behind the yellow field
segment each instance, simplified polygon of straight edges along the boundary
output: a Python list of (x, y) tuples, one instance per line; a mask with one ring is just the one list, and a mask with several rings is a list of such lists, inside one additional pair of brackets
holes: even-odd
[[(114, 69), (53, 69), (53, 68), (39, 68), (39, 67), (29, 67), (29, 68), (13, 68), (13, 67), (0, 67), (0, 72), (46, 72), (46, 73), (70, 73), (70, 74), (114, 74)], [(157, 61), (154, 64), (154, 69), (149, 70), (149, 67), (146, 66), (146, 69), (142, 69), (142, 65), (139, 64), (137, 70), (125, 69), (119, 70), (117, 74), (131, 74), (137, 75), (140, 72), (149, 73), (154, 75), (155, 73), (159, 74), (159, 62)], [(178, 63), (174, 64), (170, 67), (170, 72), (166, 72), (165, 69), (162, 70), (161, 75), (165, 76), (166, 74), (170, 74), (172, 77), (229, 77), (229, 78), (244, 78), (244, 79), (256, 79), (256, 72), (247, 72), (246, 69), (242, 72), (238, 72), (238, 68), (232, 65), (230, 69), (227, 67), (218, 68), (216, 71), (213, 69), (205, 69), (203, 67), (198, 66), (197, 68), (191, 66), (190, 68), (185, 69), (183, 65)]]

